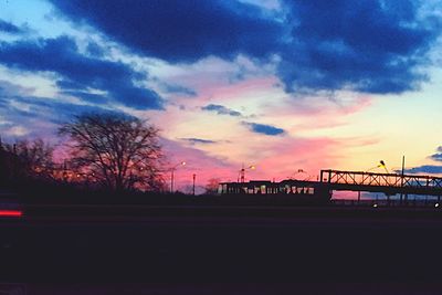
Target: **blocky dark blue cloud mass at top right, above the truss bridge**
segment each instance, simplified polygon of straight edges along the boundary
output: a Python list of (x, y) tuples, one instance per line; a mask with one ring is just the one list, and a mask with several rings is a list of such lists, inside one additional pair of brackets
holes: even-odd
[(297, 0), (291, 11), (293, 40), (282, 50), (278, 75), (288, 92), (411, 91), (440, 32), (418, 17), (417, 1)]

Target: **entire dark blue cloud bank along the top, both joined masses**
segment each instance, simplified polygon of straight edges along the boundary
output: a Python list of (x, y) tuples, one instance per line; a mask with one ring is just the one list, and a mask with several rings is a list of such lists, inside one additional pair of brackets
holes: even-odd
[(441, 32), (439, 18), (423, 15), (411, 0), (283, 0), (286, 15), (278, 21), (236, 1), (52, 2), (72, 20), (169, 62), (277, 54), (286, 92), (417, 89)]

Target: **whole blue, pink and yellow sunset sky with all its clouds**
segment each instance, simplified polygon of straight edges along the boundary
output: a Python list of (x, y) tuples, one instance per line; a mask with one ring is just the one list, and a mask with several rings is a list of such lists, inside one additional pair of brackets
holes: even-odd
[(73, 115), (137, 116), (187, 162), (180, 190), (242, 165), (442, 173), (441, 17), (435, 0), (0, 0), (0, 135), (59, 144)]

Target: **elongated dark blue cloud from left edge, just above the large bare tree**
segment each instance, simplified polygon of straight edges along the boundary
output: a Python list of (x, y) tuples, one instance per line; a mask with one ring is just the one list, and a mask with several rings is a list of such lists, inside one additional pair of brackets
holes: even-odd
[(82, 91), (78, 98), (84, 98), (84, 89), (91, 87), (107, 92), (110, 102), (128, 107), (162, 108), (162, 99), (156, 92), (134, 84), (145, 78), (144, 74), (119, 62), (85, 56), (67, 36), (0, 43), (0, 63), (24, 71), (57, 73), (57, 85), (62, 89)]

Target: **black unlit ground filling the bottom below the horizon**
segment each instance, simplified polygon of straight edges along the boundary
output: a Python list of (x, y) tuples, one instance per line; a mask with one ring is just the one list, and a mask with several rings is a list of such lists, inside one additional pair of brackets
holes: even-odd
[(440, 294), (442, 211), (355, 210), (34, 208), (0, 220), (0, 277), (28, 294)]

